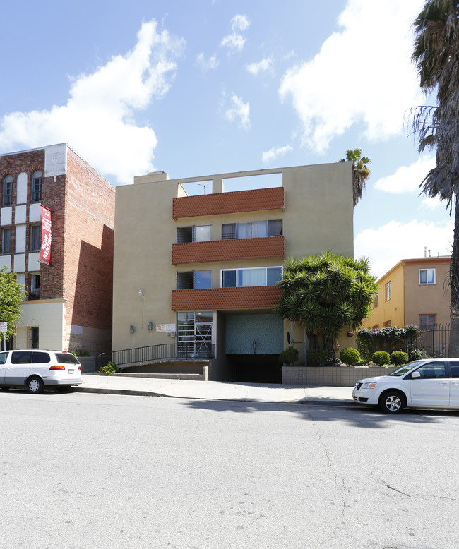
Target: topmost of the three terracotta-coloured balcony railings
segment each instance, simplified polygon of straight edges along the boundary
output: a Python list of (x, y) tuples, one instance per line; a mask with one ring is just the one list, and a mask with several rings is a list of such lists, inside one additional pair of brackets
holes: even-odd
[(284, 207), (284, 188), (259, 188), (251, 191), (214, 193), (210, 195), (180, 196), (173, 199), (172, 217), (256, 212)]

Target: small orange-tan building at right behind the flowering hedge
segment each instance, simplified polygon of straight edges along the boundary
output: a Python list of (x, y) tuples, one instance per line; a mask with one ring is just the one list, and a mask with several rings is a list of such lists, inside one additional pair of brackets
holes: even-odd
[(403, 259), (378, 280), (366, 328), (416, 325), (433, 328), (450, 320), (450, 257)]

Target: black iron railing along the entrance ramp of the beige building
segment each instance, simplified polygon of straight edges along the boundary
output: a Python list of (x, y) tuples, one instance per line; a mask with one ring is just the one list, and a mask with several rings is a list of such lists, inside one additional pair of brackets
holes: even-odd
[(112, 361), (118, 368), (124, 368), (125, 366), (129, 366), (129, 364), (151, 363), (164, 360), (193, 361), (210, 360), (211, 358), (215, 358), (215, 344), (213, 343), (163, 343), (161, 345), (112, 351)]

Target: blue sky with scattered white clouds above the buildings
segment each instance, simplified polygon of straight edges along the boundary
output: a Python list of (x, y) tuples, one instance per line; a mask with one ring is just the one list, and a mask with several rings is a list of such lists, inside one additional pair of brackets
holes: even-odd
[[(0, 153), (67, 142), (114, 185), (371, 158), (355, 255), (381, 276), (446, 255), (453, 219), (419, 197), (410, 62), (422, 0), (10, 2)], [(201, 189), (201, 192), (203, 189)], [(333, 212), (330, 212), (333, 223)]]

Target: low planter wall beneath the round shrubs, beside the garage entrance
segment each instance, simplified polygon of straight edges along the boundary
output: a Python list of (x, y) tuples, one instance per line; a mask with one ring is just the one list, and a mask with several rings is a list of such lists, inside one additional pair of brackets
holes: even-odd
[(354, 387), (363, 378), (388, 375), (400, 366), (282, 366), (282, 385), (311, 385), (313, 387)]

